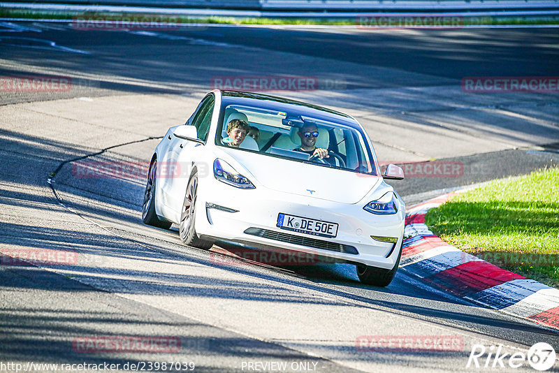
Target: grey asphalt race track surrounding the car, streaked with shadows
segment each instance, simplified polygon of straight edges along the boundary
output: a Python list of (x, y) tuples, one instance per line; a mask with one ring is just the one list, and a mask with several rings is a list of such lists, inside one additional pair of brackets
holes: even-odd
[[(40, 266), (10, 265), (2, 256), (0, 363), (464, 372), (489, 370), (466, 367), (475, 344), (502, 345), (509, 354), (537, 342), (557, 350), (556, 330), (467, 304), (403, 271), (387, 288), (374, 288), (361, 285), (351, 265), (230, 261), (217, 254), (231, 254), (226, 248), (185, 247), (175, 227), (143, 225), (140, 210), (142, 167), (159, 138), (227, 77), (317, 82), (318, 89), (274, 93), (354, 115), (380, 161), (415, 165), (406, 180), (393, 182), (409, 204), (554, 166), (557, 91), (474, 93), (461, 82), (557, 77), (558, 45), (557, 29), (85, 31), (64, 22), (0, 22), (0, 78), (71, 82), (34, 92), (0, 87), (0, 249), (75, 254)], [(76, 171), (101, 162), (136, 164), (140, 171), (106, 177)], [(441, 162), (458, 171), (433, 171)], [(461, 344), (445, 351), (358, 348), (358, 338), (370, 335)], [(180, 343), (163, 351), (80, 344), (107, 336)], [(0, 371), (15, 370), (0, 364)], [(534, 370), (525, 362), (514, 371)]]

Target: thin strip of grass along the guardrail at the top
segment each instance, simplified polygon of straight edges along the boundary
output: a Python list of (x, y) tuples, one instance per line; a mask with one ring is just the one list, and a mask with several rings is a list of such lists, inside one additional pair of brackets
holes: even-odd
[[(124, 13), (82, 13), (70, 11), (53, 10), (18, 10), (10, 8), (0, 8), (0, 18), (26, 18), (31, 20), (71, 20), (76, 15), (95, 15), (104, 17), (122, 17), (133, 14)], [(153, 15), (153, 14), (151, 14)], [(181, 15), (161, 15), (163, 17), (176, 17), (179, 23), (199, 23), (199, 24), (300, 24), (300, 25), (324, 25), (324, 26), (356, 26), (356, 17), (345, 19), (333, 19), (324, 17), (323, 19), (314, 18), (294, 18), (294, 17), (187, 17)], [(136, 14), (136, 17), (142, 17)], [(559, 17), (465, 17), (464, 25), (479, 24), (559, 24)], [(366, 28), (365, 28), (366, 29)], [(375, 29), (374, 27), (370, 29)]]

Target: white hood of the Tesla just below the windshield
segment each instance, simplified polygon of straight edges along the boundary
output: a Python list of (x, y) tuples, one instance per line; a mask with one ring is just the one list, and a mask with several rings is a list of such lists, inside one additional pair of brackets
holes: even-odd
[[(225, 150), (225, 149), (224, 149)], [(252, 152), (226, 149), (239, 165), (231, 164), (250, 180), (275, 191), (312, 196), (338, 203), (358, 203), (382, 178), (316, 164), (289, 161)], [(241, 166), (245, 170), (238, 168)]]

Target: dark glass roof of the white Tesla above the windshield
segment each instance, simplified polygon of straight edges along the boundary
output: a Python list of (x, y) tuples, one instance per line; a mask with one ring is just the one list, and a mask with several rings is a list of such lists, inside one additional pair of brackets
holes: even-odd
[(246, 105), (279, 112), (296, 111), (298, 115), (313, 117), (327, 122), (345, 124), (355, 129), (362, 129), (361, 125), (351, 116), (336, 110), (324, 108), (312, 103), (291, 100), (268, 94), (241, 91), (222, 91), (224, 105)]

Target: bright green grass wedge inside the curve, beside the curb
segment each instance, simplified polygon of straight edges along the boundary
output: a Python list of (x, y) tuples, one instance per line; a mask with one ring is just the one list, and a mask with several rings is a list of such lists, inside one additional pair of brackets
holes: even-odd
[(426, 224), (463, 251), (559, 287), (559, 168), (458, 194)]

